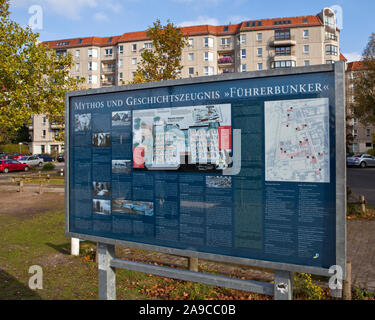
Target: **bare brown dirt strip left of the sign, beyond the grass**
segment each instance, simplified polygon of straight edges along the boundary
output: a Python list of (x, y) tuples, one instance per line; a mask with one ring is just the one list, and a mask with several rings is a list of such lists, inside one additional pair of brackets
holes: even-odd
[(0, 216), (11, 215), (21, 219), (51, 210), (64, 209), (64, 194), (35, 192), (0, 192)]

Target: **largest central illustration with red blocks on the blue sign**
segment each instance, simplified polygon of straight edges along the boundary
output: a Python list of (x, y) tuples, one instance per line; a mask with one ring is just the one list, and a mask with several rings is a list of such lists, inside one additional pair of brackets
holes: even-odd
[(136, 110), (133, 168), (221, 173), (231, 139), (230, 104)]

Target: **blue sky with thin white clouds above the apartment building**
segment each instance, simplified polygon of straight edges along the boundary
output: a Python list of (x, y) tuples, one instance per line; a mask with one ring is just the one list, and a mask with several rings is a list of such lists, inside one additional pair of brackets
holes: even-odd
[[(247, 20), (316, 15), (341, 8), (341, 52), (359, 60), (375, 32), (373, 0), (10, 0), (11, 18), (22, 26), (39, 19), (41, 41), (116, 36), (142, 31), (156, 19), (177, 26), (226, 25)], [(36, 7), (39, 6), (39, 7)], [(38, 11), (35, 11), (37, 8)], [(40, 14), (41, 13), (41, 14)], [(42, 17), (42, 19), (40, 19)]]

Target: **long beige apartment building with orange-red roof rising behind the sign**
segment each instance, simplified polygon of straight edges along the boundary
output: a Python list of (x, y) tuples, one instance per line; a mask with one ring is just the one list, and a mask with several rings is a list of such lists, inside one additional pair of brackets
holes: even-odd
[[(340, 31), (334, 12), (328, 8), (312, 16), (191, 26), (181, 30), (189, 41), (181, 56), (182, 78), (340, 60)], [(73, 56), (71, 75), (85, 78), (83, 86), (87, 89), (132, 81), (142, 52), (152, 50), (146, 31), (48, 41), (46, 44), (58, 55), (70, 53)], [(34, 125), (33, 130), (34, 136), (39, 137), (39, 128)], [(46, 152), (50, 151), (48, 148)], [(39, 151), (39, 145), (33, 143), (33, 153)]]

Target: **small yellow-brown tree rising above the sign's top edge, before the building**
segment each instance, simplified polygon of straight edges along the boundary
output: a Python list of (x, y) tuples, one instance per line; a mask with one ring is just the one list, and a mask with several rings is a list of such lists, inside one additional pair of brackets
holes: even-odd
[(169, 22), (162, 26), (160, 20), (148, 28), (152, 50), (144, 49), (133, 83), (173, 80), (180, 77), (182, 50), (187, 46), (187, 36)]

